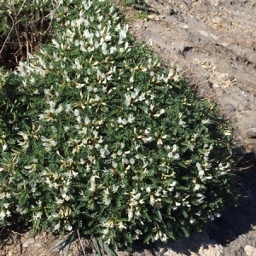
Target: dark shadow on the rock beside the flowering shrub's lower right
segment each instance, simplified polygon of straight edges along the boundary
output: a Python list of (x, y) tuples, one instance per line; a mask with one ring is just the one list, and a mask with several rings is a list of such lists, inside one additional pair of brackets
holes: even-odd
[(217, 230), (209, 229), (211, 239), (226, 246), (256, 226), (256, 155), (245, 154), (236, 164), (236, 188), (240, 194), (237, 207), (229, 207), (218, 218)]

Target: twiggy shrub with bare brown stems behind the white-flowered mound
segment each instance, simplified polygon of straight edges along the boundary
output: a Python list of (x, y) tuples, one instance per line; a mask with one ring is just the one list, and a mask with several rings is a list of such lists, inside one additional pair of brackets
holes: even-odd
[(0, 66), (15, 68), (47, 42), (59, 1), (2, 0), (0, 3)]

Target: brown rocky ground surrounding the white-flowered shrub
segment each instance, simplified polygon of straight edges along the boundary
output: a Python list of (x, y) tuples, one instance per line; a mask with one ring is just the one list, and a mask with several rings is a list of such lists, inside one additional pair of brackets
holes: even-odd
[[(166, 66), (183, 67), (201, 97), (216, 102), (236, 127), (236, 186), (239, 207), (230, 207), (205, 233), (167, 245), (137, 244), (139, 255), (256, 255), (256, 2), (255, 0), (148, 0), (150, 13), (126, 15), (131, 32), (157, 52)], [(131, 11), (132, 12), (132, 11)], [(132, 18), (133, 17), (133, 18)], [(0, 231), (1, 232), (1, 231)], [(7, 234), (7, 230), (0, 233)], [(0, 255), (65, 255), (46, 233), (33, 238), (9, 231)], [(73, 242), (72, 255), (96, 255), (93, 241)], [(51, 248), (51, 250), (49, 250)], [(60, 248), (60, 247), (58, 247)], [(80, 252), (79, 252), (80, 250)], [(119, 252), (120, 256), (129, 255)]]

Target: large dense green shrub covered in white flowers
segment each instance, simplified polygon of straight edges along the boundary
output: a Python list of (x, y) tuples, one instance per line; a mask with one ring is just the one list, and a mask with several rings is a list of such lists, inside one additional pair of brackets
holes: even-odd
[(116, 247), (201, 230), (234, 199), (229, 122), (107, 0), (68, 4), (3, 85), (0, 224), (78, 227)]

